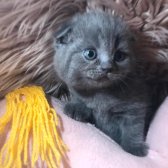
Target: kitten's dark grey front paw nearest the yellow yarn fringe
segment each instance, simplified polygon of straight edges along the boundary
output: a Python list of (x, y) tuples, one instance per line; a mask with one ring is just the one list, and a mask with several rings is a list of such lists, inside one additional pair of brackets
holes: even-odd
[(64, 107), (64, 113), (69, 117), (82, 122), (93, 123), (92, 109), (88, 108), (82, 102), (67, 103)]

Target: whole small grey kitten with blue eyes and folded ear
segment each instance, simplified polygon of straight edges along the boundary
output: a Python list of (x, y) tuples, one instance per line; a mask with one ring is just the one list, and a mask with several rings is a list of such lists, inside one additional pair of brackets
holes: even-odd
[(136, 74), (134, 43), (120, 18), (105, 12), (79, 14), (55, 34), (54, 67), (69, 89), (68, 116), (95, 124), (125, 151), (145, 156), (151, 95)]

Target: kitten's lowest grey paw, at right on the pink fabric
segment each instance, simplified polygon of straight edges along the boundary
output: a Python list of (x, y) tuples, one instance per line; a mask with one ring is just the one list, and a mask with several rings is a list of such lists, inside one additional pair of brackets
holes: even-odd
[(148, 146), (144, 142), (136, 144), (136, 145), (124, 146), (123, 148), (125, 151), (135, 156), (144, 157), (148, 154)]

